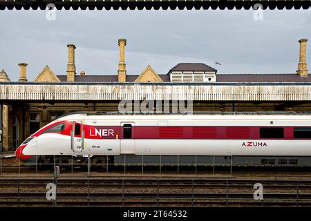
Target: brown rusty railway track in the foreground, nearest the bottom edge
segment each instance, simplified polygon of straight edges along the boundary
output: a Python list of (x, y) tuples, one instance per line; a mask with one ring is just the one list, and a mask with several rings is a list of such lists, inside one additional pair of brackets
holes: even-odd
[[(263, 200), (254, 200), (254, 184)], [(46, 184), (57, 183), (55, 200)], [(0, 179), (0, 206), (311, 206), (311, 180)]]

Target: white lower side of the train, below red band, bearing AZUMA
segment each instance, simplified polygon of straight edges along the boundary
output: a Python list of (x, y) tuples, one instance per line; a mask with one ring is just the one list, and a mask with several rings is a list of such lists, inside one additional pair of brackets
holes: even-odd
[[(55, 142), (57, 139), (57, 142)], [(37, 142), (38, 145), (32, 145)], [(134, 142), (134, 144), (133, 144)], [(64, 135), (44, 135), (24, 148), (25, 155), (296, 155), (311, 156), (309, 140), (91, 140), (73, 152)], [(130, 147), (129, 147), (130, 146)], [(125, 150), (124, 150), (125, 149)]]

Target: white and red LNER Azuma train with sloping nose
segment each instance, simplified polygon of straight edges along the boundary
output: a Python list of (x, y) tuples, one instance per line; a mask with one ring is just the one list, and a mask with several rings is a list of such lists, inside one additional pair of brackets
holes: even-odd
[(216, 157), (232, 166), (311, 166), (311, 115), (73, 113), (30, 135), (16, 155), (26, 163), (90, 156), (95, 164), (204, 165)]

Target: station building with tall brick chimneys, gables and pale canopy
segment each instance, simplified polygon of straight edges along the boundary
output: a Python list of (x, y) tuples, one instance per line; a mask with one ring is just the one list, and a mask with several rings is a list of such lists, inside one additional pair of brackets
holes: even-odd
[(45, 66), (35, 79), (19, 65), (19, 81), (0, 72), (1, 151), (15, 149), (29, 135), (60, 115), (75, 111), (118, 111), (121, 100), (191, 101), (194, 113), (218, 111), (311, 111), (311, 77), (306, 64), (307, 39), (299, 40), (299, 64), (284, 74), (217, 74), (207, 64), (173, 64), (159, 74), (147, 66), (126, 74), (126, 39), (119, 39), (115, 75), (77, 73), (75, 45), (68, 44), (66, 74)]

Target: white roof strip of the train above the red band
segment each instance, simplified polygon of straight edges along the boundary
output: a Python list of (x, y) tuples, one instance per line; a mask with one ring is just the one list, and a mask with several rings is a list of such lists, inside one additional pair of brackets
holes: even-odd
[(134, 117), (135, 119), (234, 119), (237, 116), (243, 119), (311, 119), (311, 112), (294, 112), (294, 111), (252, 111), (252, 112), (220, 112), (208, 111), (193, 114), (169, 113), (169, 114), (127, 114), (118, 112), (75, 112), (62, 115), (57, 120), (70, 119), (126, 119)]

